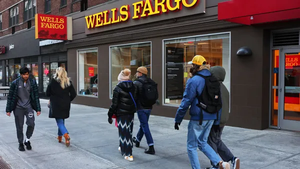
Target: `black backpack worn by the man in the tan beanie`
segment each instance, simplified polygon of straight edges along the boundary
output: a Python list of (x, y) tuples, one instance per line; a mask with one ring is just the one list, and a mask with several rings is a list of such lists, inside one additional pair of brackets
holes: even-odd
[(140, 103), (143, 106), (152, 106), (156, 103), (158, 98), (157, 83), (151, 78), (136, 79), (142, 83), (142, 96), (140, 97)]

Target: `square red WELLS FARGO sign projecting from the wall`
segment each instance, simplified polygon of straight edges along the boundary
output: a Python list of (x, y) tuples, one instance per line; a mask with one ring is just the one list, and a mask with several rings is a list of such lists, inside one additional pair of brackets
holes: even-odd
[(72, 40), (72, 18), (35, 14), (35, 38)]

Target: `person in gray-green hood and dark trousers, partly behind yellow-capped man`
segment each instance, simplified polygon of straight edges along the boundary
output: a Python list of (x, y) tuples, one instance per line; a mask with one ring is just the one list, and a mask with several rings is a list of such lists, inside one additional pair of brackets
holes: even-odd
[[(221, 66), (210, 67), (210, 72), (219, 80), (221, 85), (221, 98), (222, 108), (219, 112), (218, 120), (215, 120), (208, 136), (207, 143), (213, 148), (213, 150), (220, 155), (220, 157), (226, 161), (231, 161), (233, 169), (239, 169), (239, 158), (235, 157), (227, 146), (221, 140), (222, 130), (228, 120), (229, 116), (229, 92), (225, 85), (222, 83), (225, 79), (226, 71)], [(211, 162), (210, 162), (211, 163)], [(211, 163), (212, 164), (212, 163)], [(206, 169), (217, 168), (215, 166), (208, 167)]]

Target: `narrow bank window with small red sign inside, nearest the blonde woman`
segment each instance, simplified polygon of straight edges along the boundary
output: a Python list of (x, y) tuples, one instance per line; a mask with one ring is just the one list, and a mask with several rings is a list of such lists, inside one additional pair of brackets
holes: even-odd
[(98, 95), (98, 50), (78, 51), (78, 90), (81, 95)]

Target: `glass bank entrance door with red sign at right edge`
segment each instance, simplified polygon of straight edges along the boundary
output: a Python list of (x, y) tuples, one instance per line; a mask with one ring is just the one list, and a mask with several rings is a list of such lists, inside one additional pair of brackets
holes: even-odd
[(300, 49), (283, 49), (279, 59), (279, 126), (300, 131)]

